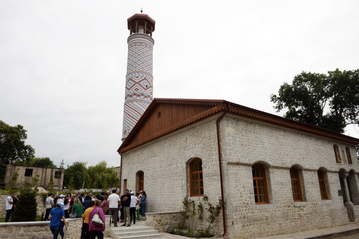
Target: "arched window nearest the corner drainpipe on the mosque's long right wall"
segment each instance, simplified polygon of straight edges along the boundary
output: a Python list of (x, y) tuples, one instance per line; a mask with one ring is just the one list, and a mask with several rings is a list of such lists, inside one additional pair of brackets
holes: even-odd
[(269, 204), (265, 167), (260, 164), (252, 166), (254, 199), (256, 204)]

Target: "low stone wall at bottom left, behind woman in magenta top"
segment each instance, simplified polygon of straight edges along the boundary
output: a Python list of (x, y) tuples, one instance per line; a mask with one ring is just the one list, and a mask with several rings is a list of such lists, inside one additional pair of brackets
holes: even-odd
[[(105, 216), (106, 218), (109, 216)], [(80, 239), (82, 218), (66, 219), (67, 231), (64, 239)], [(106, 230), (104, 236), (109, 235)], [(29, 221), (22, 223), (0, 223), (0, 238), (11, 239), (48, 239), (52, 238), (50, 221)], [(61, 236), (58, 236), (61, 239)]]

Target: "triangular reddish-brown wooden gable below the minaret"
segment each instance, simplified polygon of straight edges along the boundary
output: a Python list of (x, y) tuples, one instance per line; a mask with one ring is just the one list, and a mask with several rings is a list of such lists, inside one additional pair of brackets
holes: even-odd
[(217, 114), (225, 107), (223, 100), (154, 99), (123, 141), (118, 152), (171, 133), (189, 124)]

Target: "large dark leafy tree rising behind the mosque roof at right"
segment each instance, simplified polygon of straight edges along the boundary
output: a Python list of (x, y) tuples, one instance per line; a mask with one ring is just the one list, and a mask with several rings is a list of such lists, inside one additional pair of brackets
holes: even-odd
[(288, 109), (284, 117), (344, 133), (346, 125), (359, 124), (359, 69), (302, 72), (292, 84), (284, 83), (271, 95), (274, 108)]

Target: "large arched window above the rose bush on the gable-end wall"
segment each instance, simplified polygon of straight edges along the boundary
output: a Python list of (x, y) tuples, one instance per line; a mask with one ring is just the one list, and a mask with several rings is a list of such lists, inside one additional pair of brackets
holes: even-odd
[(202, 159), (196, 158), (189, 164), (190, 167), (190, 196), (203, 196)]

